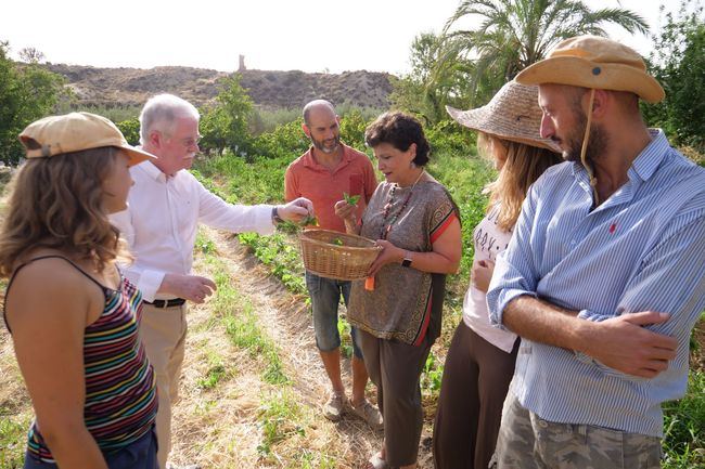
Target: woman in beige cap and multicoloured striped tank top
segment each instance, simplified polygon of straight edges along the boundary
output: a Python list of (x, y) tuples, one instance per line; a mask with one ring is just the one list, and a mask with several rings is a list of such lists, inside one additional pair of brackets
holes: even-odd
[(141, 295), (116, 268), (128, 168), (152, 158), (110, 120), (53, 116), (20, 135), (27, 161), (0, 233), (3, 317), (35, 409), (25, 468), (156, 468), (156, 391)]

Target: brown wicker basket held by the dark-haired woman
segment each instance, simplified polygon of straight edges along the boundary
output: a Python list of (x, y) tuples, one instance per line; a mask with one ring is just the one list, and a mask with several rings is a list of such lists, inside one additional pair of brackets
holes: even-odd
[[(306, 270), (337, 281), (367, 277), (382, 249), (372, 239), (330, 230), (305, 230), (298, 238)], [(334, 244), (336, 239), (342, 245)]]

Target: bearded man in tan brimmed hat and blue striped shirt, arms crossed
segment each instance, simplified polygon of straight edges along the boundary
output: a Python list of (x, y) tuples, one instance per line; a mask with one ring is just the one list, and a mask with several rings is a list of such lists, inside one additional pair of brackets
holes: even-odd
[(569, 162), (531, 186), (487, 292), (522, 337), (498, 467), (657, 468), (705, 308), (705, 170), (644, 125), (664, 92), (629, 48), (567, 39), (516, 80)]

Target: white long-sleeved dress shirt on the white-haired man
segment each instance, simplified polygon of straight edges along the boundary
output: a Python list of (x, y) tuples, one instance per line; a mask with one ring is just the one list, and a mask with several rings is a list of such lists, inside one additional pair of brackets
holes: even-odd
[(130, 168), (134, 185), (128, 209), (111, 216), (127, 240), (134, 262), (124, 266), (146, 301), (157, 295), (164, 275), (191, 274), (198, 222), (234, 233), (271, 234), (271, 205), (232, 205), (211, 194), (189, 171), (166, 177), (150, 161)]

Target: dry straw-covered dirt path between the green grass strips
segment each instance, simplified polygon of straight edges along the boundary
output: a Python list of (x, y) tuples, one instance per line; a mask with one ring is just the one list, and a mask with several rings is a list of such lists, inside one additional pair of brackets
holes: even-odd
[[(352, 416), (333, 424), (320, 414), (321, 402), (328, 395), (328, 378), (315, 346), (312, 323), (304, 303), (305, 299), (294, 297), (281, 283), (269, 276), (259, 261), (248, 255), (232, 235), (207, 229), (203, 230), (203, 233), (214, 242), (216, 256), (227, 265), (232, 286), (252, 304), (260, 327), (279, 349), (285, 375), (292, 378), (293, 399), (304, 407), (307, 416), (305, 421), (308, 444), (312, 451), (320, 448), (325, 454), (335, 455), (334, 459), (329, 459), (326, 464), (311, 467), (361, 467), (367, 457), (381, 446), (382, 433), (371, 431)], [(196, 259), (196, 270), (202, 269), (204, 265)], [(233, 313), (238, 314), (236, 311)], [(218, 468), (225, 467), (223, 465), (270, 467), (266, 460), (257, 457), (257, 446), (260, 444), (258, 440), (261, 440), (261, 422), (257, 420), (257, 416), (261, 407), (262, 390), (267, 388), (257, 373), (247, 369), (247, 366), (241, 367), (234, 372), (236, 376), (218, 385), (216, 396), (205, 396), (196, 385), (198, 377), (203, 376), (207, 368), (207, 365), (204, 365), (207, 362), (207, 350), (214, 346), (229, 363), (247, 362), (243, 352), (228, 344), (222, 328), (204, 326), (209, 321), (208, 303), (190, 312), (182, 399), (175, 408), (175, 421), (178, 424), (175, 425), (174, 459)], [(344, 380), (349, 390), (348, 360), (344, 362)], [(372, 386), (369, 389), (370, 398), (374, 399)], [(208, 407), (209, 402), (211, 407), (204, 418), (200, 414), (203, 414), (204, 407)], [(211, 418), (214, 414), (219, 417)], [(222, 416), (227, 416), (227, 422), (223, 422)], [(210, 442), (214, 447), (227, 447), (216, 440), (214, 433), (225, 440), (231, 439), (229, 451), (241, 456), (219, 458), (215, 457), (213, 452), (204, 451), (204, 440)], [(223, 434), (227, 437), (222, 437)], [(309, 466), (282, 460), (273, 467)]]

